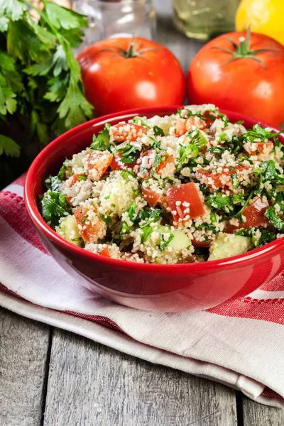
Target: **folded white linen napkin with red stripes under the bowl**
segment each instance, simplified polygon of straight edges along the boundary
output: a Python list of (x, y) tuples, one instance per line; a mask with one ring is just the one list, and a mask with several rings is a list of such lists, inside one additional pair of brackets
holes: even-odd
[(210, 378), (284, 408), (284, 278), (200, 312), (135, 310), (84, 288), (45, 251), (23, 204), (0, 192), (0, 305), (141, 359)]

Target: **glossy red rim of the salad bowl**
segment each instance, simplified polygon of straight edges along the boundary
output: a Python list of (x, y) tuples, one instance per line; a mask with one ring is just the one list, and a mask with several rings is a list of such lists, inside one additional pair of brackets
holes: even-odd
[[(214, 261), (204, 261), (204, 262), (197, 262), (197, 263), (175, 263), (175, 264), (155, 264), (155, 263), (136, 263), (136, 262), (130, 262), (130, 261), (124, 261), (121, 259), (114, 259), (114, 258), (107, 258), (105, 256), (100, 256), (97, 253), (92, 253), (91, 251), (87, 251), (82, 249), (81, 247), (75, 246), (75, 244), (70, 243), (69, 241), (62, 238), (62, 236), (58, 235), (53, 229), (48, 226), (48, 224), (44, 221), (43, 217), (41, 216), (37, 202), (33, 199), (33, 182), (36, 180), (37, 177), (37, 170), (40, 167), (40, 163), (45, 158), (45, 155), (52, 155), (53, 147), (58, 146), (62, 141), (65, 141), (69, 136), (76, 136), (77, 133), (80, 131), (87, 129), (89, 127), (92, 127), (94, 124), (105, 124), (109, 119), (126, 119), (127, 116), (131, 114), (149, 114), (153, 113), (155, 115), (155, 112), (165, 112), (165, 114), (173, 114), (173, 111), (177, 111), (180, 107), (184, 107), (185, 105), (173, 105), (169, 107), (147, 107), (147, 108), (135, 108), (135, 109), (128, 109), (125, 111), (119, 111), (113, 114), (107, 114), (104, 116), (100, 116), (96, 119), (92, 119), (90, 121), (87, 121), (83, 124), (80, 124), (79, 126), (74, 127), (73, 129), (70, 129), (69, 131), (62, 133), (62, 135), (58, 136), (58, 138), (55, 138), (52, 142), (48, 144), (45, 148), (43, 148), (43, 151), (40, 151), (40, 153), (35, 157), (33, 160), (33, 163), (31, 163), (30, 168), (28, 169), (27, 175), (26, 175), (26, 181), (24, 185), (24, 201), (26, 204), (26, 209), (29, 214), (29, 216), (32, 219), (33, 224), (35, 224), (36, 229), (40, 230), (45, 236), (48, 237), (53, 243), (58, 244), (59, 246), (62, 246), (67, 251), (71, 251), (73, 254), (87, 258), (90, 261), (97, 261), (99, 263), (103, 263), (106, 266), (114, 266), (119, 267), (122, 269), (128, 269), (136, 271), (150, 271), (150, 272), (166, 272), (166, 273), (172, 273), (175, 274), (178, 271), (184, 272), (184, 273), (197, 273), (198, 271), (206, 271), (207, 269), (216, 269), (216, 268), (230, 268), (231, 266), (240, 266), (242, 263), (247, 264), (251, 263), (255, 260), (265, 260), (266, 258), (271, 258), (273, 256), (273, 253), (279, 252), (280, 249), (283, 249), (284, 240), (283, 239), (275, 239), (274, 241), (271, 241), (271, 243), (265, 244), (264, 246), (259, 247), (258, 249), (253, 249), (251, 251), (248, 251), (246, 253), (237, 255), (237, 256), (231, 256), (229, 258), (223, 258), (218, 259)], [(270, 124), (266, 123), (265, 121), (254, 119), (251, 116), (246, 116), (244, 114), (240, 114), (235, 111), (230, 111), (226, 109), (220, 109), (220, 111), (224, 114), (228, 114), (229, 116), (233, 115), (234, 120), (248, 120), (248, 121), (255, 121), (255, 124), (261, 124), (261, 126), (269, 127), (275, 132), (281, 131), (281, 129), (275, 128), (274, 126), (271, 126)]]

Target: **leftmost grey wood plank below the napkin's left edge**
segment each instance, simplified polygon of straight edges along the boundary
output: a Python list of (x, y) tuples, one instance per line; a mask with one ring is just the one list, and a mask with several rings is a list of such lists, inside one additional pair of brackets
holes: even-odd
[(0, 425), (40, 425), (50, 327), (0, 307)]

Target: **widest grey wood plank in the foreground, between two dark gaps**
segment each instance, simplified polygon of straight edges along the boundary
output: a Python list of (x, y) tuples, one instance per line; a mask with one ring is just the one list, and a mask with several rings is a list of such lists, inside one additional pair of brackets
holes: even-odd
[(234, 391), (55, 329), (45, 426), (231, 426)]

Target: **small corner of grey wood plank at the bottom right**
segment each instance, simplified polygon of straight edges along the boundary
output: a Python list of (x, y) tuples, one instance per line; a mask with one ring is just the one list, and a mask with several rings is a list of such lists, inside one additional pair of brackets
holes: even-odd
[(243, 396), (244, 426), (283, 426), (284, 411), (255, 403)]

